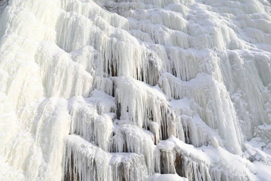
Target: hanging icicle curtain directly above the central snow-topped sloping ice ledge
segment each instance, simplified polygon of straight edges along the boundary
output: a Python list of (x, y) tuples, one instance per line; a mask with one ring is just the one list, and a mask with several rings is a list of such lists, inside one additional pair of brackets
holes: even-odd
[[(104, 45), (105, 72), (111, 76), (130, 76), (136, 80), (155, 85), (161, 71), (157, 54), (140, 45), (134, 37), (122, 31)], [(129, 39), (129, 42), (124, 40)], [(121, 40), (121, 41), (119, 41)]]

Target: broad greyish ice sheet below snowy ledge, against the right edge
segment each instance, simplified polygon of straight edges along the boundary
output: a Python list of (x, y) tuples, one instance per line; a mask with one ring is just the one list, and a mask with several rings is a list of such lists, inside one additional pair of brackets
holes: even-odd
[(217, 50), (217, 56), (220, 58), (219, 76), (231, 94), (238, 118), (242, 120), (243, 133), (250, 139), (254, 127), (270, 123), (266, 109), (270, 105), (270, 94), (266, 89), (270, 84), (270, 56), (247, 50)]

